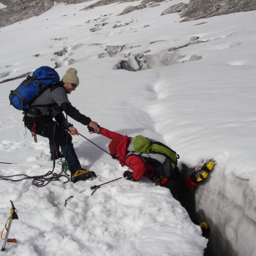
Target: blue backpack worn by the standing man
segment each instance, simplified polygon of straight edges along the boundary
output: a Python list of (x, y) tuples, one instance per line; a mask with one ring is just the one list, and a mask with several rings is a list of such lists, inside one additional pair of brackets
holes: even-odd
[(51, 67), (39, 67), (32, 76), (23, 80), (17, 89), (11, 91), (9, 95), (10, 105), (18, 110), (30, 108), (31, 103), (39, 94), (42, 94), (53, 83), (58, 83), (59, 80), (58, 73)]

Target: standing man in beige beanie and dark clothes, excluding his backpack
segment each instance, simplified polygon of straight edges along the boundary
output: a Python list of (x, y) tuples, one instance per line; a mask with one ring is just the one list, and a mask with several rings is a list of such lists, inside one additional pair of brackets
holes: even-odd
[[(91, 121), (91, 118), (83, 115), (67, 97), (79, 86), (78, 71), (74, 68), (67, 69), (61, 81), (53, 83), (48, 89), (39, 94), (31, 104), (30, 108), (24, 111), (24, 124), (34, 135), (41, 135), (49, 139), (50, 153), (55, 158), (59, 158), (59, 146), (64, 156), (67, 156), (67, 163), (71, 173), (71, 181), (85, 181), (94, 178), (94, 172), (84, 170), (75, 154), (71, 135), (79, 135), (78, 130), (69, 124), (67, 116), (75, 119), (91, 129), (99, 132), (97, 122)], [(53, 121), (53, 118), (55, 121)], [(69, 134), (68, 132), (71, 134)]]

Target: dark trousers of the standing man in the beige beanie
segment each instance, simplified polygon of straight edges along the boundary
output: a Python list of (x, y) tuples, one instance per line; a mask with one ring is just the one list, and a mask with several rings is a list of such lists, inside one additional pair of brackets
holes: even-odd
[[(72, 136), (67, 132), (66, 129), (61, 127), (56, 121), (53, 121), (52, 118), (48, 116), (35, 116), (24, 117), (25, 126), (32, 132), (33, 125), (36, 125), (37, 135), (48, 138), (51, 145), (61, 146), (61, 151), (66, 156), (67, 152), (67, 163), (69, 164), (69, 170), (71, 173), (75, 173), (75, 170), (78, 170), (80, 162), (77, 155), (75, 154), (75, 149), (72, 144)], [(55, 127), (55, 132), (53, 131)], [(53, 153), (53, 148), (50, 148), (51, 153)]]

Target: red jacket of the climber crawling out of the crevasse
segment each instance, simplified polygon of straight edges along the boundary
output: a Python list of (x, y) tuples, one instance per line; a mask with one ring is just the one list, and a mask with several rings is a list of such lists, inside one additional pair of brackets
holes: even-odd
[(117, 132), (111, 132), (108, 129), (102, 128), (100, 135), (103, 135), (110, 140), (116, 139), (116, 138), (122, 138), (120, 141), (118, 147), (117, 147), (117, 156), (119, 158), (119, 162), (121, 166), (127, 165), (131, 170), (133, 170), (132, 176), (135, 179), (140, 179), (142, 176), (151, 178), (153, 177), (153, 171), (154, 168), (151, 165), (146, 164), (143, 162), (140, 157), (135, 155), (130, 155), (127, 157), (127, 147), (129, 146), (130, 140), (132, 140), (132, 137), (127, 137), (124, 135), (121, 135)]

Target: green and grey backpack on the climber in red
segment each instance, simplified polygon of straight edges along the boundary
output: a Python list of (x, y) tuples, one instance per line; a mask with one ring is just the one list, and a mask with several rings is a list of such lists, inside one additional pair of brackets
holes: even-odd
[(157, 140), (138, 135), (129, 143), (127, 148), (129, 157), (135, 154), (144, 162), (148, 163), (157, 170), (161, 176), (168, 177), (177, 166), (177, 159), (179, 158), (176, 151), (167, 147), (165, 144)]

